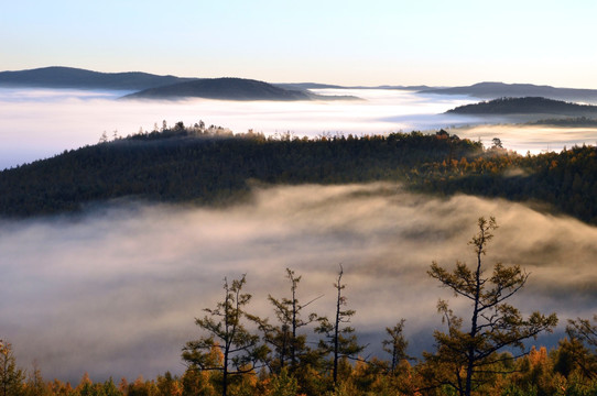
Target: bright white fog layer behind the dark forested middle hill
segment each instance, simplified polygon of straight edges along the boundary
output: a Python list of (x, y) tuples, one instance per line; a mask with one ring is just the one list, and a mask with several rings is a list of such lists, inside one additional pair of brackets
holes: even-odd
[[(183, 121), (192, 125), (252, 129), (267, 135), (291, 132), (296, 136), (322, 134), (384, 134), (412, 130), (451, 129), (460, 138), (486, 145), (499, 138), (520, 153), (595, 144), (597, 129), (482, 125), (475, 118), (443, 114), (476, 100), (467, 97), (417, 95), (383, 89), (319, 89), (322, 95), (351, 95), (346, 101), (181, 101), (118, 100), (126, 91), (0, 88), (0, 169), (45, 158), (64, 150), (95, 144), (104, 132), (110, 138), (151, 131)], [(498, 120), (499, 121), (499, 120)], [(471, 128), (481, 123), (481, 127)], [(456, 127), (464, 127), (458, 128)]]

